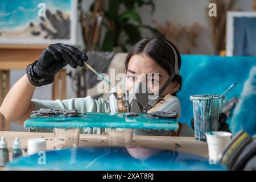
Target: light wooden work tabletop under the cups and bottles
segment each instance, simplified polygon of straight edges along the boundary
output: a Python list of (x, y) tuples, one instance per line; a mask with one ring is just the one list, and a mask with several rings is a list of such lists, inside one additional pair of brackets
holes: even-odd
[[(47, 150), (54, 150), (53, 133), (28, 133), (14, 131), (0, 131), (0, 137), (5, 137), (8, 143), (10, 161), (13, 160), (13, 142), (15, 137), (19, 137), (22, 143), (23, 156), (27, 155), (27, 139), (45, 138)], [(79, 146), (108, 146), (106, 135), (86, 135), (80, 134)], [(177, 150), (201, 155), (208, 158), (207, 143), (196, 141), (193, 137), (155, 137), (155, 136), (134, 136), (133, 146), (154, 147), (160, 149)], [(3, 170), (0, 167), (0, 170)]]

